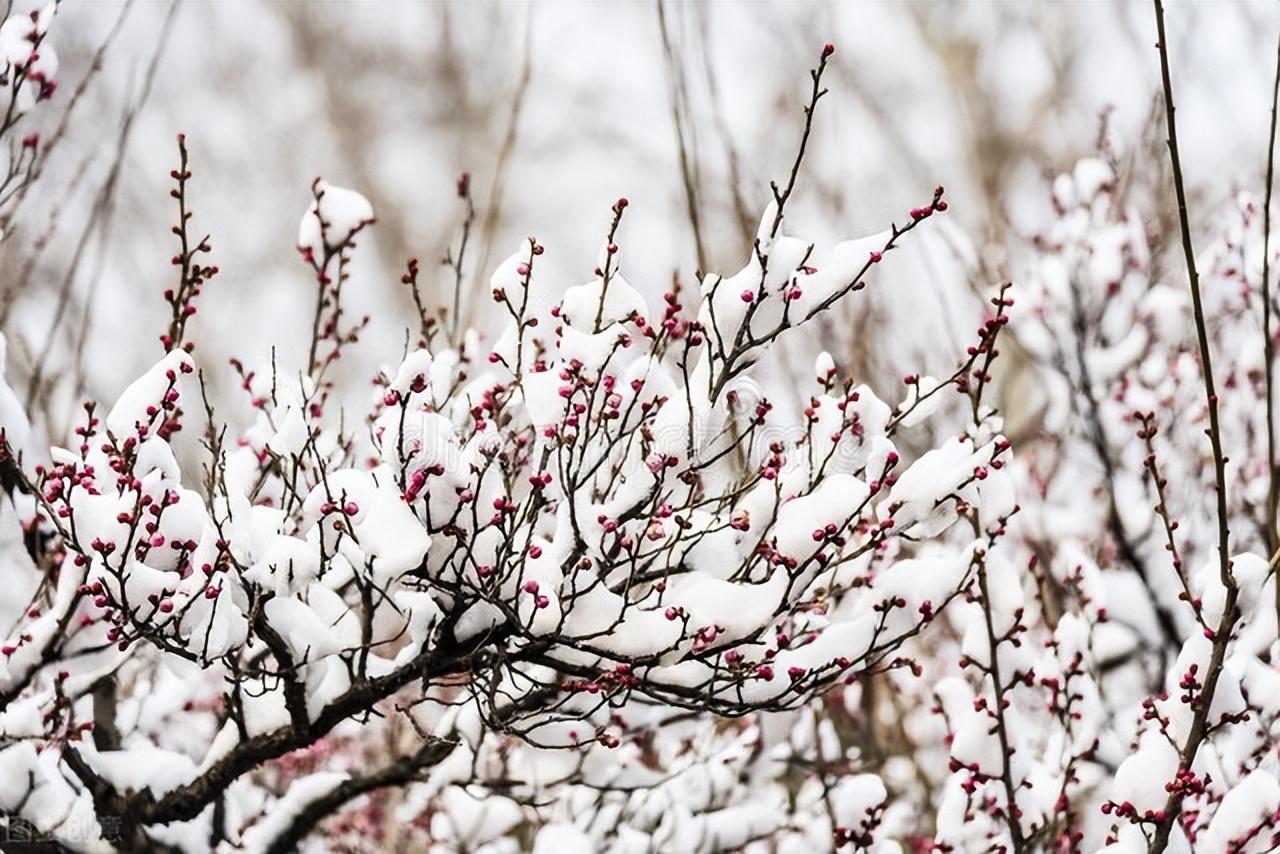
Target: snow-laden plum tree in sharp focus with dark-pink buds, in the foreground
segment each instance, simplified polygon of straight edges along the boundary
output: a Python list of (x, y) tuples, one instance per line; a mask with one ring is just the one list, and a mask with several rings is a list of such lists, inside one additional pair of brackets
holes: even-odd
[[(1015, 510), (988, 474), (1009, 443), (982, 382), (972, 424), (906, 465), (893, 438), (937, 388), (913, 383), (891, 407), (824, 359), (810, 406), (780, 414), (750, 376), (947, 207), (938, 188), (820, 265), (785, 233), (832, 52), (753, 256), (707, 275), (696, 311), (678, 287), (650, 311), (626, 280), (618, 200), (589, 282), (549, 305), (530, 238), (493, 274), (509, 323), (492, 347), (422, 316), (362, 420), (330, 399), (330, 369), (369, 323), (348, 324), (343, 288), (374, 216), (319, 179), (298, 236), (316, 287), (305, 370), (236, 364), (255, 411), (243, 431), (201, 406), (188, 320), (218, 268), (189, 228), (179, 137), (164, 357), (105, 414), (86, 405), (70, 447), (4, 446), (20, 522), (3, 648), (10, 823), (65, 844), (285, 850), (348, 802), (415, 784), (422, 832), (460, 846), (562, 791), (618, 800), (632, 834), (677, 848), (773, 832), (769, 813), (716, 809), (718, 791), (654, 827), (653, 793), (704, 772), (671, 734), (740, 752), (750, 730), (714, 721), (911, 666), (900, 648), (983, 571)], [(417, 275), (411, 262), (415, 289)], [(1004, 323), (961, 374), (989, 362)], [(178, 461), (193, 429), (198, 479)], [(943, 547), (963, 519), (973, 533)], [(905, 543), (945, 548), (927, 589)], [(338, 759), (338, 743), (379, 755)], [(634, 791), (650, 798), (625, 807)]]

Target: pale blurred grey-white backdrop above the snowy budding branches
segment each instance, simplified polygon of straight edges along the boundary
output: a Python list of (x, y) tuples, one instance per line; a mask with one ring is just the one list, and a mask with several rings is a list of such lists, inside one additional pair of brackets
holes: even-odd
[[(1167, 14), (1193, 198), (1261, 192), (1280, 10)], [(476, 205), (465, 303), (489, 334), (493, 268), (536, 236), (558, 282), (588, 280), (620, 196), (622, 269), (650, 301), (673, 277), (737, 271), (828, 41), (831, 91), (787, 230), (820, 259), (904, 222), (936, 184), (951, 209), (824, 334), (790, 346), (805, 373), (819, 346), (873, 385), (947, 369), (974, 294), (1033, 262), (1053, 175), (1103, 137), (1121, 157), (1165, 160), (1146, 3), (68, 0), (49, 38), (59, 91), (28, 120), (46, 138), (65, 131), (0, 243), (0, 323), (19, 394), (41, 360), (55, 380), (32, 392), (52, 438), (78, 399), (113, 399), (161, 352), (178, 132), (192, 228), (221, 269), (192, 324), (215, 394), (229, 357), (305, 357), (314, 280), (294, 245), (317, 175), (365, 193), (379, 220), (347, 292), (352, 314), (374, 316), (356, 374), (398, 361), (416, 325), (408, 257), (430, 298), (451, 301), (435, 261), (460, 237), (462, 172)], [(1143, 214), (1152, 232), (1162, 202)]]

